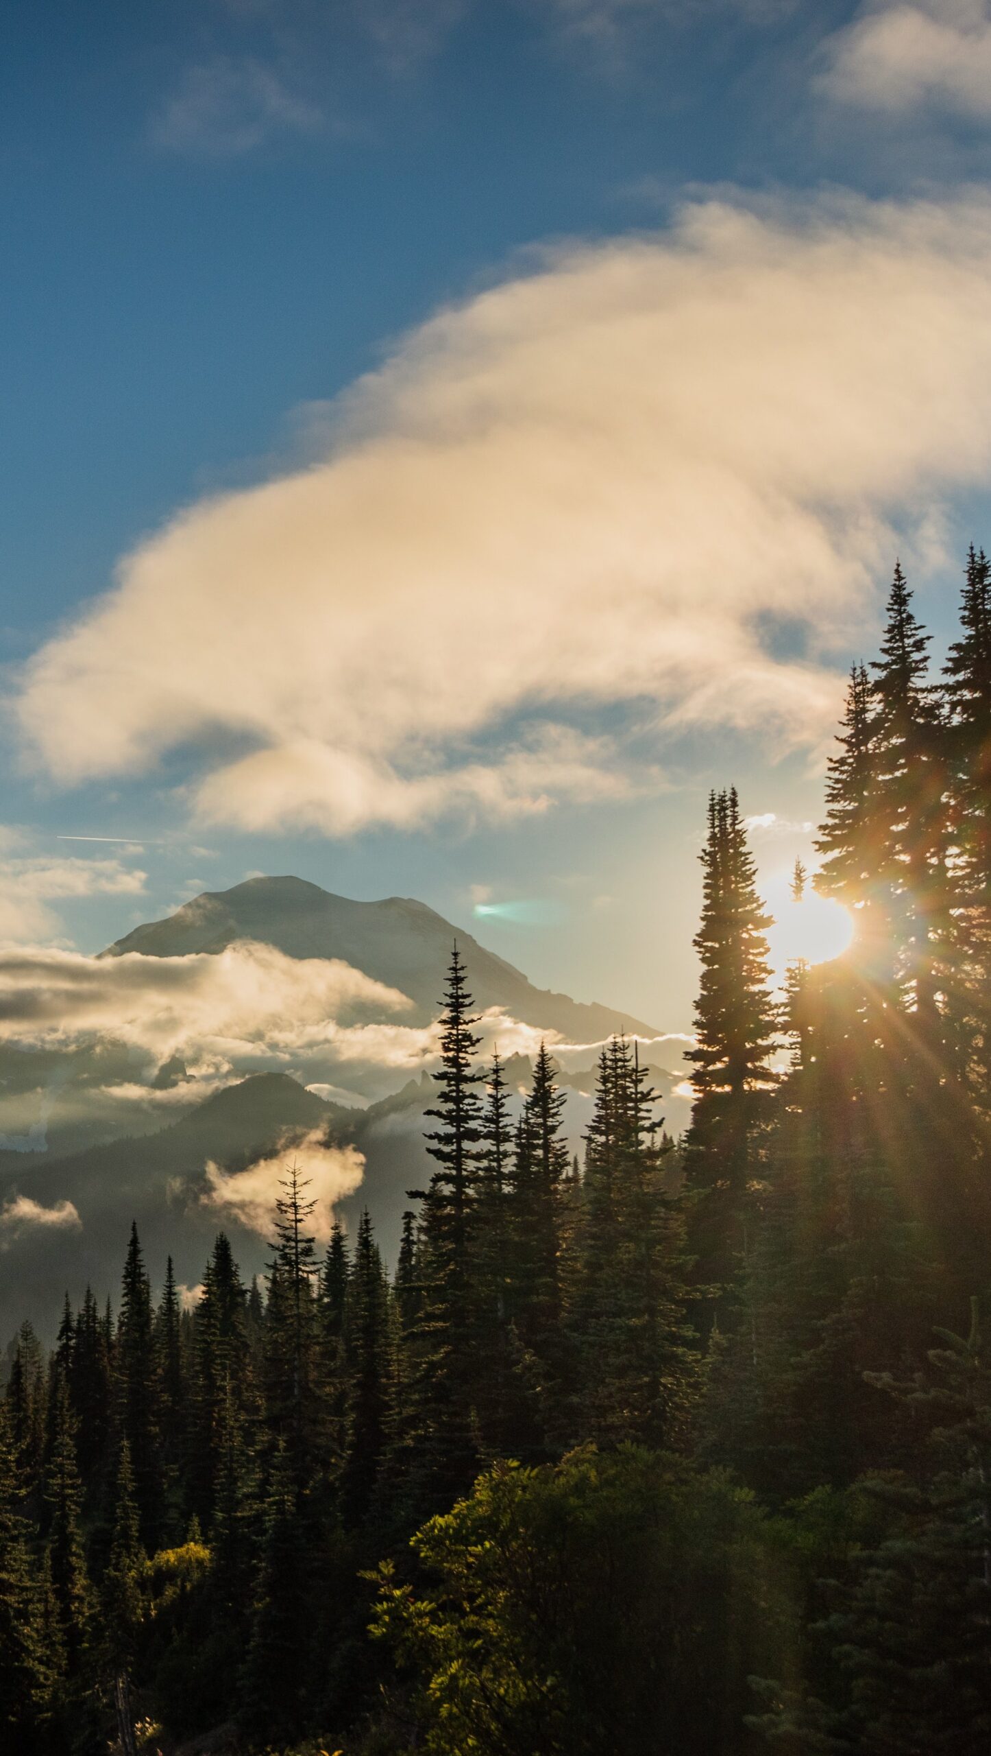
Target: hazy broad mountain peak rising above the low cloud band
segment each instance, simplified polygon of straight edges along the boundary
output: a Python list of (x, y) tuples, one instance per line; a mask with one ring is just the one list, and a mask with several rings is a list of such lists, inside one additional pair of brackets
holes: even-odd
[(533, 987), (519, 969), (486, 952), (470, 932), (453, 927), (424, 903), (398, 896), (354, 903), (305, 878), (249, 878), (232, 890), (205, 890), (165, 920), (135, 927), (103, 955), (184, 957), (223, 952), (235, 939), (260, 939), (288, 957), (340, 957), (375, 982), (409, 994), (417, 1008), (416, 1022), (426, 1024), (437, 1013), (454, 938), (481, 1010), (500, 1006), (535, 1029), (560, 1031), (572, 1043), (602, 1041), (614, 1031), (658, 1034), (642, 1018)]

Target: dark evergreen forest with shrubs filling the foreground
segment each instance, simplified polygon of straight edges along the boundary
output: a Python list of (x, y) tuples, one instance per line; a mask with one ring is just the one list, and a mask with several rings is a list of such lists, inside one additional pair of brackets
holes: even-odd
[(710, 797), (684, 1138), (616, 1038), (575, 1157), (454, 946), (395, 1273), (291, 1155), (193, 1308), (123, 1213), (0, 1403), (4, 1751), (982, 1756), (989, 799), (991, 565), (940, 671), (896, 567), (795, 873), (856, 934), (784, 997)]

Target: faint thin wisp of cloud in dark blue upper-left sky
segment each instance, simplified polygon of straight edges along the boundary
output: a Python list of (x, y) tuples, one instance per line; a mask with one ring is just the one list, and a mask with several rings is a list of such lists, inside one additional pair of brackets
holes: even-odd
[(323, 126), (321, 107), (275, 67), (219, 54), (186, 68), (154, 116), (151, 139), (168, 153), (237, 158), (279, 135), (316, 135)]

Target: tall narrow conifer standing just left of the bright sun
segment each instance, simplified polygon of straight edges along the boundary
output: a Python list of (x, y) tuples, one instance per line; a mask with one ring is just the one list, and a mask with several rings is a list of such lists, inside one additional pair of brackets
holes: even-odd
[[(747, 1250), (747, 1198), (761, 1166), (777, 1075), (765, 913), (737, 790), (712, 794), (702, 852), (702, 959), (696, 1004), (695, 1106), (686, 1177), (695, 1192), (691, 1249), (702, 1285), (728, 1289)], [(721, 1326), (731, 1301), (723, 1296)]]

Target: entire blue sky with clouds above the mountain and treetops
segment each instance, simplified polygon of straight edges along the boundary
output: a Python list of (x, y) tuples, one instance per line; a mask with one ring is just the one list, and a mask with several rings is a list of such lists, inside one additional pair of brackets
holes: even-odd
[[(686, 1031), (991, 541), (986, 0), (0, 25), (0, 941), (295, 873)], [(72, 839), (91, 838), (91, 839)]]

